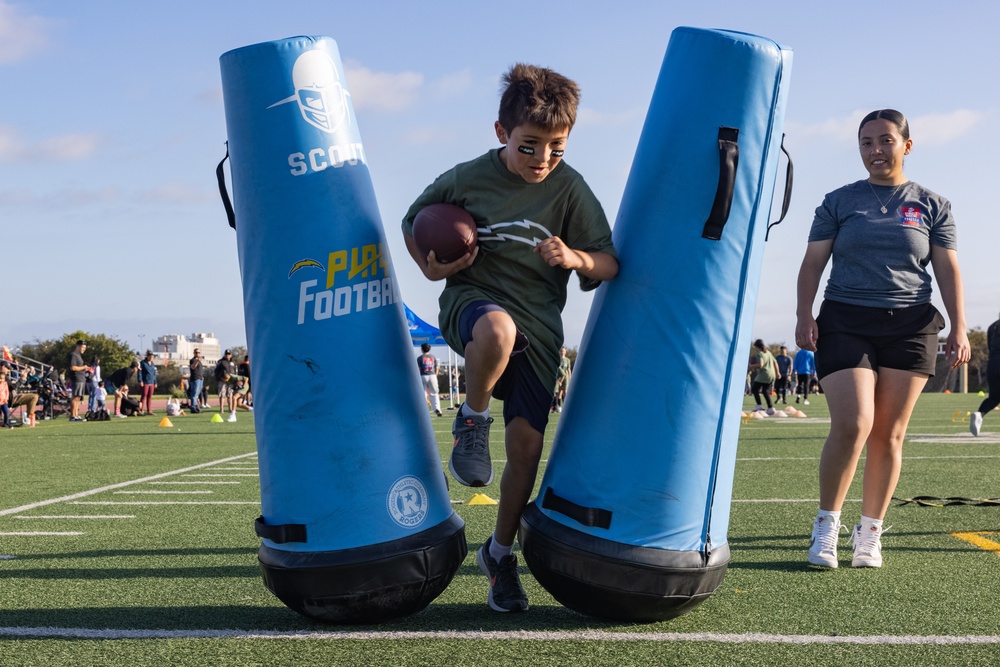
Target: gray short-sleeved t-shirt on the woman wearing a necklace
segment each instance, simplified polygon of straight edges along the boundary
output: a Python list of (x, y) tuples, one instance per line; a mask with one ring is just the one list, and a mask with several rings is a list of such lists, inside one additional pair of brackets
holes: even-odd
[(912, 181), (895, 189), (858, 181), (816, 209), (809, 241), (833, 239), (824, 298), (871, 308), (930, 302), (931, 246), (956, 247), (951, 203)]

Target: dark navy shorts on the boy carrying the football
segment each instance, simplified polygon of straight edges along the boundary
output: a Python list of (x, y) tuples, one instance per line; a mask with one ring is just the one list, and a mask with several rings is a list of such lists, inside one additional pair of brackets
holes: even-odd
[[(472, 328), (480, 317), (488, 312), (504, 309), (488, 301), (469, 304), (459, 317), (459, 335), (462, 343), (472, 340)], [(506, 312), (506, 311), (504, 311)], [(493, 398), (503, 401), (503, 422), (506, 426), (515, 417), (528, 420), (531, 427), (545, 433), (549, 423), (549, 408), (552, 406), (553, 391), (546, 388), (535, 375), (528, 355), (522, 354), (528, 346), (528, 339), (518, 331), (518, 340), (507, 362), (507, 368), (493, 388)]]

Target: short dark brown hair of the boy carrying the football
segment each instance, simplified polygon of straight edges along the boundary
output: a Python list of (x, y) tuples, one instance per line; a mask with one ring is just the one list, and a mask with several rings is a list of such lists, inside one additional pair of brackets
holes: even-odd
[(510, 132), (519, 125), (547, 130), (572, 129), (580, 104), (575, 81), (545, 67), (517, 63), (500, 79), (500, 112), (497, 120)]

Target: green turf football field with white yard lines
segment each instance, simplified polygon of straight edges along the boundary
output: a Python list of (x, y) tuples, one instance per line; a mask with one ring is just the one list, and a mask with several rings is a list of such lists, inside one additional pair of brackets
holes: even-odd
[[(897, 496), (1000, 496), (1000, 413), (979, 438), (961, 421), (979, 400), (921, 397)], [(0, 665), (1000, 664), (1000, 506), (897, 503), (881, 570), (810, 569), (827, 413), (822, 396), (800, 407), (808, 419), (742, 427), (722, 588), (652, 624), (578, 615), (523, 567), (531, 611), (490, 611), (474, 552), (496, 507), (464, 501), (496, 498), (497, 481), (452, 482), (469, 556), (430, 606), (378, 626), (320, 625), (260, 580), (252, 415), (3, 430), (0, 554), (15, 558), (0, 560)], [(442, 461), (448, 414), (432, 418)], [(498, 471), (501, 436), (494, 428)], [(859, 498), (860, 476), (845, 523)], [(849, 565), (846, 536), (841, 548)]]

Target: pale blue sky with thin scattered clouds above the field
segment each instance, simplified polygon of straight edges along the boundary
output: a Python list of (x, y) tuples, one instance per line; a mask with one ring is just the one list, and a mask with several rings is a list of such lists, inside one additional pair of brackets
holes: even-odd
[[(438, 174), (496, 145), (501, 72), (523, 61), (580, 84), (566, 159), (614, 221), (678, 26), (755, 33), (794, 52), (785, 143), (795, 191), (765, 250), (755, 337), (793, 339), (813, 211), (866, 175), (857, 123), (881, 107), (910, 119), (907, 176), (952, 201), (969, 326), (985, 328), (1000, 311), (998, 23), (995, 3), (923, 0), (0, 0), (0, 342), (77, 328), (135, 347), (139, 334), (148, 345), (194, 331), (246, 341), (236, 239), (214, 177), (228, 50), (301, 34), (337, 41), (403, 298), (434, 322), (441, 284), (410, 261), (399, 220)], [(571, 288), (574, 346), (590, 296)]]

